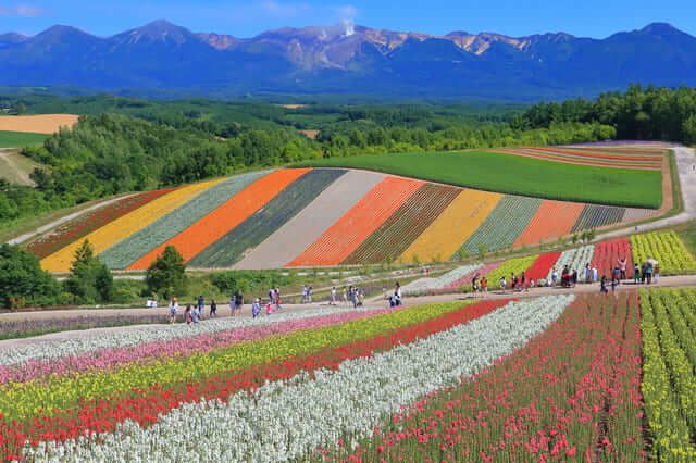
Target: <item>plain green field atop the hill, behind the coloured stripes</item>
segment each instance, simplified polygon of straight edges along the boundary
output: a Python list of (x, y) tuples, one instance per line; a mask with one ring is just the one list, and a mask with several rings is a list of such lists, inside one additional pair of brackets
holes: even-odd
[(659, 209), (658, 171), (602, 168), (490, 152), (374, 154), (312, 160), (296, 166), (350, 167), (488, 191), (566, 201)]

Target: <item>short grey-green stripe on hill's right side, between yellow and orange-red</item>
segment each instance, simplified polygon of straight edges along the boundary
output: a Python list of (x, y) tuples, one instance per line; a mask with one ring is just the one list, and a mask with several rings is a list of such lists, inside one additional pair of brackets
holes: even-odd
[(542, 202), (534, 198), (506, 196), (483, 225), (464, 242), (461, 251), (467, 255), (477, 255), (481, 251), (489, 252), (511, 247), (534, 217)]

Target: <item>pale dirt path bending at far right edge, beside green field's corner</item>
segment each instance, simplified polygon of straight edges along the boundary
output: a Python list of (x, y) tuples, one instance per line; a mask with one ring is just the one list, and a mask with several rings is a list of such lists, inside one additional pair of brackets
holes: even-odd
[[(676, 171), (679, 173), (679, 179), (682, 189), (682, 201), (684, 203), (684, 211), (672, 217), (661, 218), (659, 221), (651, 222), (649, 224), (638, 225), (636, 227), (626, 227), (601, 234), (595, 238), (595, 241), (605, 240), (607, 238), (614, 238), (620, 236), (626, 236), (636, 232), (647, 232), (658, 228), (663, 228), (672, 225), (679, 225), (684, 222), (696, 218), (696, 152), (693, 148), (674, 147), (674, 158), (676, 160)], [(670, 191), (670, 196), (671, 196)]]

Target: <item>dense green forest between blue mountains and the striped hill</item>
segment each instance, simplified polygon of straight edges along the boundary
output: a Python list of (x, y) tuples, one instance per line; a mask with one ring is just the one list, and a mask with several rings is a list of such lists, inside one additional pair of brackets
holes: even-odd
[(0, 182), (0, 229), (125, 191), (299, 161), (613, 138), (696, 140), (696, 90), (688, 88), (631, 87), (530, 108), (0, 96), (0, 109), (13, 108), (83, 117), (72, 130), (24, 148), (45, 167), (32, 174), (35, 188)]

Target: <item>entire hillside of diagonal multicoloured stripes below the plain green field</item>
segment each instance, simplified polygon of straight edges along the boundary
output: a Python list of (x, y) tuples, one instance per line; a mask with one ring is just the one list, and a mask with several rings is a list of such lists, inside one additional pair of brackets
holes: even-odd
[(26, 248), (57, 273), (70, 270), (85, 239), (112, 270), (147, 270), (166, 246), (194, 268), (434, 262), (644, 215), (374, 172), (281, 168), (123, 198)]

